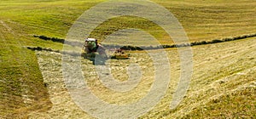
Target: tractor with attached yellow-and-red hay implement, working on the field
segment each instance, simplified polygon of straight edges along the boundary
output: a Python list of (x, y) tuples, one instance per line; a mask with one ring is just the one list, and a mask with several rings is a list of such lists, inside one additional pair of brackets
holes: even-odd
[(98, 58), (107, 60), (107, 59), (129, 59), (130, 54), (126, 54), (123, 49), (111, 49), (107, 54), (106, 49), (97, 42), (95, 38), (86, 38), (84, 41), (84, 46), (82, 50), (82, 56), (87, 59), (94, 59), (97, 56)]

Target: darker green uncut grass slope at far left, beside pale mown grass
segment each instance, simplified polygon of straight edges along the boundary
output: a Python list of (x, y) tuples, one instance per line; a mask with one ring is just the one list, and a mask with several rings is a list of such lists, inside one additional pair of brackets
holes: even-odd
[(22, 47), (24, 37), (13, 26), (0, 20), (0, 27), (0, 118), (47, 111), (51, 102), (36, 55)]

